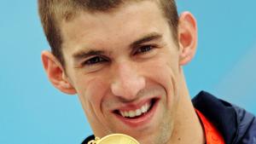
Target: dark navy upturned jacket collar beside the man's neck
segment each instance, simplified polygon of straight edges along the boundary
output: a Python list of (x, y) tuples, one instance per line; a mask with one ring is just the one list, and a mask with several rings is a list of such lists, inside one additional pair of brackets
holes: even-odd
[(235, 108), (228, 102), (201, 91), (192, 100), (194, 107), (207, 117), (224, 136), (226, 144), (231, 144), (237, 135), (237, 116)]

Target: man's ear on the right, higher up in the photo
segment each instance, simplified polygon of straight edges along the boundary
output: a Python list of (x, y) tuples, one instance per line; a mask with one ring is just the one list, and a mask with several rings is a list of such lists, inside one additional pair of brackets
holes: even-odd
[(193, 14), (183, 12), (178, 23), (179, 65), (188, 64), (195, 56), (197, 47), (197, 26)]

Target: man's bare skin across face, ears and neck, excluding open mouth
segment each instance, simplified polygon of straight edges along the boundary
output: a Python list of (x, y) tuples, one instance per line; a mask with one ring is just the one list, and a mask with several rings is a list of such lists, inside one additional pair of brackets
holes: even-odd
[[(205, 143), (182, 68), (195, 55), (192, 14), (180, 15), (177, 43), (151, 1), (108, 13), (82, 12), (62, 21), (61, 30), (65, 71), (49, 51), (42, 53), (44, 69), (57, 89), (79, 95), (96, 136), (124, 133), (142, 144)], [(141, 122), (125, 124), (114, 112), (152, 100), (154, 111)]]

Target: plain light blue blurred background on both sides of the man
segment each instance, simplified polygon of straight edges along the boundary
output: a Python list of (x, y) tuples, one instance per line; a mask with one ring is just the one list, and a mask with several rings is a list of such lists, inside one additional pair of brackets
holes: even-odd
[[(201, 89), (256, 113), (256, 1), (177, 1), (198, 21), (198, 52), (185, 73)], [(70, 144), (91, 134), (76, 95), (56, 90), (40, 54), (49, 49), (35, 0), (0, 1), (0, 143)]]

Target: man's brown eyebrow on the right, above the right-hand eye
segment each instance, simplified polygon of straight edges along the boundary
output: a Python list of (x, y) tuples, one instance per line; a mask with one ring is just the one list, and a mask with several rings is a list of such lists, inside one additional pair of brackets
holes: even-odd
[(152, 32), (152, 33), (149, 33), (149, 34), (143, 36), (142, 38), (138, 39), (137, 41), (131, 43), (130, 47), (134, 48), (142, 43), (147, 43), (147, 42), (150, 42), (153, 40), (159, 40), (160, 38), (162, 38), (162, 34), (160, 34), (158, 32)]

